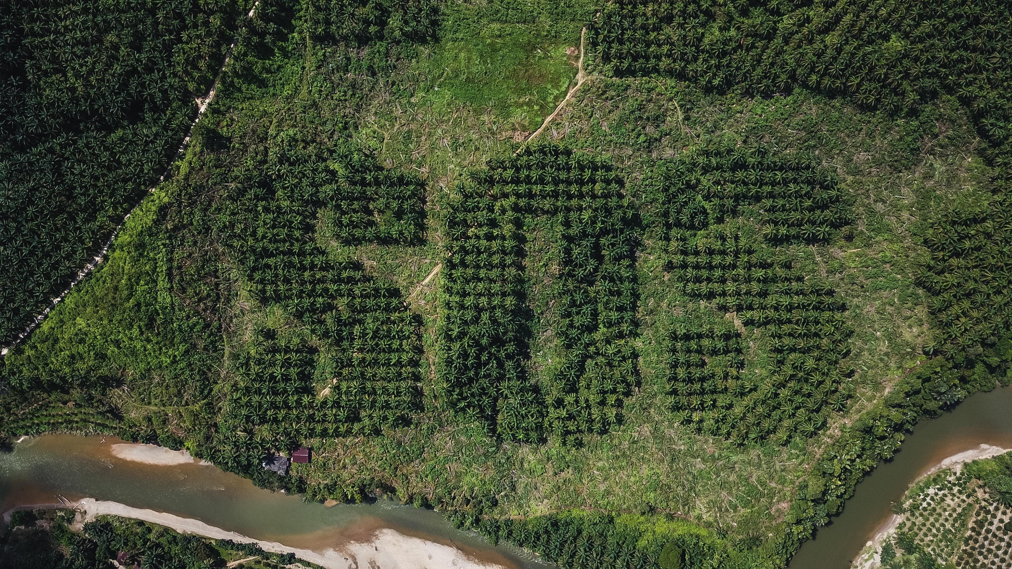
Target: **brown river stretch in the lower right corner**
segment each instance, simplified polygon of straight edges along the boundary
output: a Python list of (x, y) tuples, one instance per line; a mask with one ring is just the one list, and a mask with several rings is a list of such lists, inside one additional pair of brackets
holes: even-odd
[(893, 514), (911, 483), (942, 459), (981, 444), (1012, 449), (1012, 387), (967, 397), (908, 433), (900, 452), (858, 483), (843, 513), (802, 546), (789, 569), (846, 569)]

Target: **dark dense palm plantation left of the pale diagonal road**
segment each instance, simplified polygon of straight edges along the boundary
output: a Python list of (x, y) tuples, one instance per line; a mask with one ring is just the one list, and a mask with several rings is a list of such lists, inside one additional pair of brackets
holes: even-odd
[(0, 10), (0, 345), (63, 293), (167, 166), (239, 15), (231, 0)]

